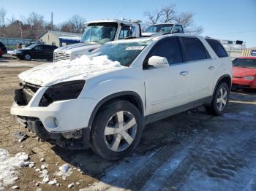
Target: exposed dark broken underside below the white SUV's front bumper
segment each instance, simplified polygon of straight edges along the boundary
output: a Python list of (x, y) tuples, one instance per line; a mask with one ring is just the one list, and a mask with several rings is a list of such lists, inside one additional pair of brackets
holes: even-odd
[(42, 141), (48, 141), (64, 149), (89, 149), (89, 128), (53, 133), (48, 132), (37, 117), (16, 116), (16, 120)]

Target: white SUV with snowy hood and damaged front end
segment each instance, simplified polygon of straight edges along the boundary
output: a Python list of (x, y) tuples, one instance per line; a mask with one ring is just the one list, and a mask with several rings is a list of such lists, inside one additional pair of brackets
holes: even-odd
[(200, 105), (222, 114), (231, 77), (230, 58), (215, 39), (120, 40), (21, 73), (11, 113), (42, 139), (117, 160), (138, 145), (149, 122)]

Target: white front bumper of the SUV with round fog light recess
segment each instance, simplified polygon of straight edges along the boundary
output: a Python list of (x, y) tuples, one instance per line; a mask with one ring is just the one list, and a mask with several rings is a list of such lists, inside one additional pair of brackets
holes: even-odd
[(21, 117), (36, 117), (42, 122), (42, 128), (51, 133), (87, 128), (91, 112), (96, 101), (91, 98), (77, 98), (56, 101), (49, 106), (39, 106), (39, 101), (47, 87), (40, 87), (26, 106), (12, 104), (11, 114)]

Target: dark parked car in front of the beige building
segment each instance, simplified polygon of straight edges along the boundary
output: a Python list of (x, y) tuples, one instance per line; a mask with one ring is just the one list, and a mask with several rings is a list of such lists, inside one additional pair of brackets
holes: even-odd
[(12, 55), (20, 60), (30, 61), (31, 59), (47, 59), (53, 60), (53, 51), (56, 50), (55, 45), (32, 44), (23, 49), (13, 51)]

